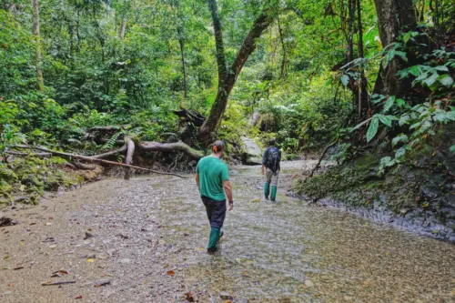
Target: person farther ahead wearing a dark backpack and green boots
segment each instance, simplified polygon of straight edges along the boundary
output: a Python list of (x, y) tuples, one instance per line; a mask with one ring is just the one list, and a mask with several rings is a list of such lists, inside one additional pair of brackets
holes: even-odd
[[(262, 156), (262, 175), (266, 175), (266, 182), (264, 183), (264, 196), (270, 200), (275, 201), (277, 197), (277, 185), (279, 176), (279, 162), (281, 161), (281, 151), (275, 146), (275, 139), (268, 140), (268, 148)], [(271, 187), (271, 190), (270, 190)]]

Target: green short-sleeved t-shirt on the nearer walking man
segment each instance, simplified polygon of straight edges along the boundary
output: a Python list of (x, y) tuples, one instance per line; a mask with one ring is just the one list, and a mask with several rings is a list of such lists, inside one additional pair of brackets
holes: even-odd
[(223, 181), (229, 180), (227, 165), (217, 157), (203, 157), (197, 163), (200, 195), (217, 201), (226, 200)]

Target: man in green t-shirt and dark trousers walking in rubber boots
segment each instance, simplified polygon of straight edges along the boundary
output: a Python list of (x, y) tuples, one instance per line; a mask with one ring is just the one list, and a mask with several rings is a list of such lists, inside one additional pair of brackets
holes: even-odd
[(217, 251), (217, 242), (223, 236), (221, 228), (226, 217), (226, 197), (229, 201), (229, 211), (234, 208), (227, 165), (221, 160), (224, 152), (224, 142), (216, 141), (212, 146), (212, 155), (200, 159), (196, 168), (197, 188), (206, 207), (211, 227), (208, 253)]

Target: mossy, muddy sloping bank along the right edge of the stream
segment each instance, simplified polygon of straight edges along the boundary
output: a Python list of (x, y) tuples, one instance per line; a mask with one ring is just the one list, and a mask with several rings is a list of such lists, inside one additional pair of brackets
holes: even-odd
[(419, 167), (379, 175), (377, 159), (362, 157), (299, 179), (289, 195), (455, 243), (455, 180), (435, 162), (422, 157)]

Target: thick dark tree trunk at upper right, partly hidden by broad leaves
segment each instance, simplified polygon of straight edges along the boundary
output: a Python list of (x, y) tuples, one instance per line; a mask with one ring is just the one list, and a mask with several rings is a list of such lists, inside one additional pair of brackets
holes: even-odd
[[(397, 41), (399, 30), (413, 30), (417, 27), (412, 0), (375, 0), (378, 15), (379, 36), (383, 47)], [(397, 76), (404, 67), (400, 59), (393, 59), (387, 68), (379, 69), (375, 93), (389, 96), (402, 96), (410, 89), (410, 83), (402, 82)]]

